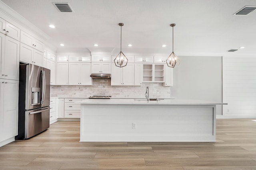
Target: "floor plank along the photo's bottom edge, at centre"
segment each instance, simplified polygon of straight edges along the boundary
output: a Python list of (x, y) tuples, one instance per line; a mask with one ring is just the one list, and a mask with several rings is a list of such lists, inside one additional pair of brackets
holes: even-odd
[(181, 166), (61, 166), (60, 170), (184, 170)]

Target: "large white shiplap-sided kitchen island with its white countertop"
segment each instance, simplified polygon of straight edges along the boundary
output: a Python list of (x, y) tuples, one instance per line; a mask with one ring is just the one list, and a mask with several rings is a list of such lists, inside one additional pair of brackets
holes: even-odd
[(80, 142), (214, 142), (216, 105), (200, 100), (86, 99)]

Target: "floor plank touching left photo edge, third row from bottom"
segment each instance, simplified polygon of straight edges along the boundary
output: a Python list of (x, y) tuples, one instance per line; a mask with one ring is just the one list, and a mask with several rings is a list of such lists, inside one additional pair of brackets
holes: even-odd
[(0, 152), (0, 158), (94, 158), (95, 152)]

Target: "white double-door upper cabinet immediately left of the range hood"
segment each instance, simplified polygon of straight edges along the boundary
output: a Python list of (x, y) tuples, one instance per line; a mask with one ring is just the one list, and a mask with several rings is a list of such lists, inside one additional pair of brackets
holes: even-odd
[(69, 63), (68, 85), (92, 85), (91, 63)]

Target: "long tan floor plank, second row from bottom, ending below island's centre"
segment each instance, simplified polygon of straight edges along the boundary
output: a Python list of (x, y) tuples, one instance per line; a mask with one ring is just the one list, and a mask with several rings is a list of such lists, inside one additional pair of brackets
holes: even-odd
[(36, 158), (30, 166), (146, 166), (144, 159), (56, 159)]

